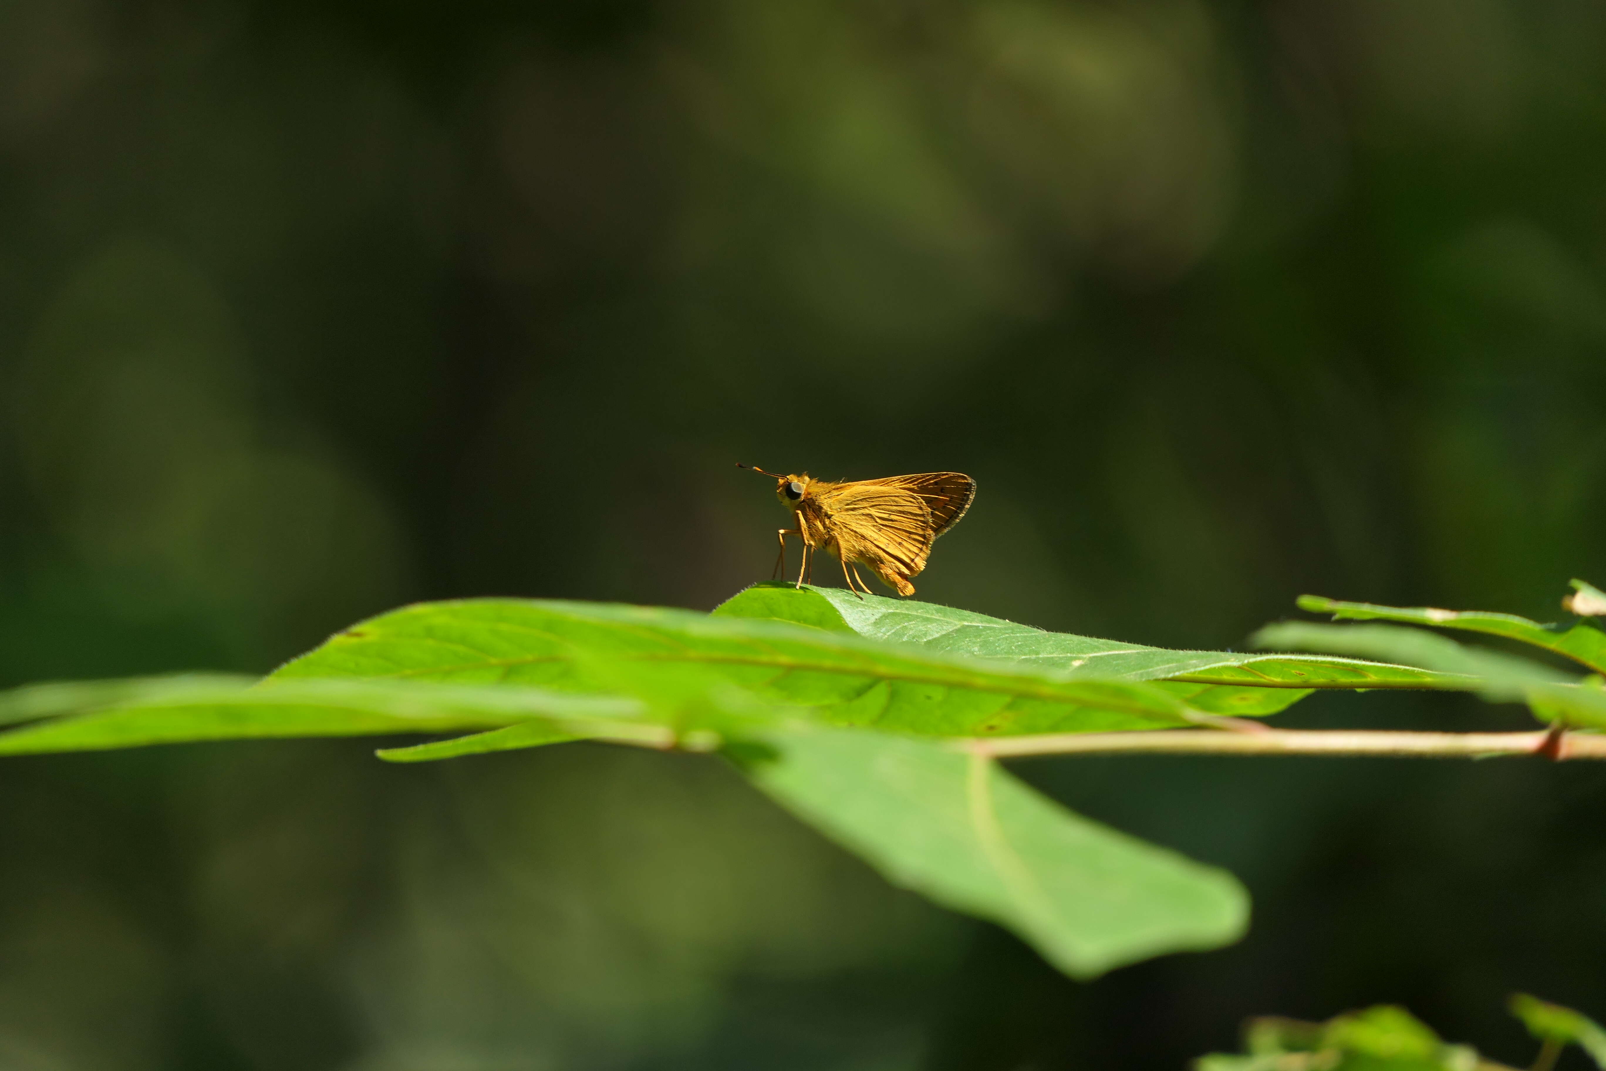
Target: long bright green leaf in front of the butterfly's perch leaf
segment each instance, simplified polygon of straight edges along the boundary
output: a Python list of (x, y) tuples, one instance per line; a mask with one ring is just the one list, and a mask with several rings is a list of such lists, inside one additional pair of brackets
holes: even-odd
[(533, 599), (405, 607), (270, 679), (329, 676), (516, 682), (652, 702), (734, 687), (832, 724), (935, 735), (1152, 729), (1190, 718), (1182, 698), (1155, 684), (1071, 679), (781, 621)]

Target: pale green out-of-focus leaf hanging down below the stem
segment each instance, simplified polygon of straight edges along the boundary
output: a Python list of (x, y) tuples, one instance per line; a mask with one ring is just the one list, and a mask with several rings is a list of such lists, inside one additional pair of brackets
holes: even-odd
[(768, 743), (739, 759), (760, 788), (891, 883), (1015, 930), (1068, 975), (1243, 935), (1232, 875), (1073, 814), (986, 758), (824, 727)]

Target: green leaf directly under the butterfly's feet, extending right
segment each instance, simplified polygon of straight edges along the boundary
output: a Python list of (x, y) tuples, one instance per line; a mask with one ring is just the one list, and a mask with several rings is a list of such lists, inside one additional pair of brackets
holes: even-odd
[[(843, 628), (867, 639), (917, 644), (922, 650), (1005, 660), (1068, 679), (1168, 681), (1168, 690), (1200, 710), (1275, 713), (1317, 687), (1444, 687), (1441, 674), (1416, 666), (1355, 658), (1230, 650), (1169, 650), (1071, 633), (1047, 633), (996, 617), (931, 602), (856, 597), (840, 588), (801, 591), (790, 584), (756, 584), (718, 609), (718, 617), (769, 618), (821, 629)], [(1193, 686), (1193, 687), (1185, 687)], [(1219, 690), (1216, 690), (1219, 689)], [(1253, 690), (1251, 690), (1253, 689)], [(1269, 697), (1267, 689), (1288, 689)]]

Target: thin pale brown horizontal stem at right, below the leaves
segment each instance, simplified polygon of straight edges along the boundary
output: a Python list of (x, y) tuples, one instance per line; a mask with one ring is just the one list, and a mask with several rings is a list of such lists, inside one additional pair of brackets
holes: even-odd
[(1388, 758), (1484, 758), (1540, 755), (1606, 759), (1606, 735), (1579, 732), (1389, 732), (1376, 729), (1153, 729), (1140, 732), (1054, 732), (1029, 737), (956, 740), (975, 755), (1372, 755)]

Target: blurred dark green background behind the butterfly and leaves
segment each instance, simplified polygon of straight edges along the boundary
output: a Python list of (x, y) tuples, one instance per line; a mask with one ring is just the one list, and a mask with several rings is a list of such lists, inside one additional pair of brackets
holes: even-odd
[[(708, 609), (782, 520), (734, 461), (973, 474), (920, 597), (1049, 628), (1553, 620), (1606, 581), (1603, 55), (1592, 0), (3, 0), (0, 682)], [(1606, 771), (1025, 764), (1256, 896), (1074, 984), (715, 759), (371, 748), (0, 764), (0, 1066), (1158, 1069), (1384, 1000), (1526, 1063), (1511, 989), (1606, 1015)]]

